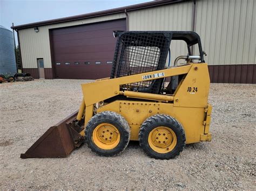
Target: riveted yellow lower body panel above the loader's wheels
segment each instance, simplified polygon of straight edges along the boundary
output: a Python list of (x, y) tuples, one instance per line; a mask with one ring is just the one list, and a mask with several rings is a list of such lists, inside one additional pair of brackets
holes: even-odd
[(166, 114), (176, 118), (185, 130), (186, 143), (200, 141), (204, 134), (204, 108), (174, 107), (172, 103), (155, 103), (117, 100), (103, 105), (98, 112), (114, 111), (122, 115), (131, 127), (131, 140), (138, 140), (139, 128), (152, 115)]

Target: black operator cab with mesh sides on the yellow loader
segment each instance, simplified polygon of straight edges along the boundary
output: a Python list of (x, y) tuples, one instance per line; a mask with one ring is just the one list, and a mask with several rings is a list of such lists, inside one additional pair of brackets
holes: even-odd
[[(113, 36), (117, 38), (117, 46), (114, 53), (111, 79), (165, 69), (172, 40), (183, 40), (187, 45), (187, 55), (178, 56), (174, 61), (174, 67), (178, 66), (177, 63), (180, 59), (185, 59), (186, 64), (191, 63), (192, 60), (205, 62), (201, 40), (196, 32), (114, 31)], [(194, 45), (199, 47), (199, 56), (191, 54)], [(145, 77), (150, 79), (150, 76)], [(172, 76), (170, 83), (165, 82), (167, 80), (163, 78), (124, 84), (120, 87), (120, 90), (173, 94), (183, 77), (183, 75)]]

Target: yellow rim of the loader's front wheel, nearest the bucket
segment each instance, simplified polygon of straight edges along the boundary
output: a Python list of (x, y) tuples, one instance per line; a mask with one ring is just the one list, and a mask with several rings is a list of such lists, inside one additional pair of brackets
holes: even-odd
[(120, 133), (114, 125), (102, 123), (93, 130), (92, 139), (99, 148), (110, 150), (119, 144)]

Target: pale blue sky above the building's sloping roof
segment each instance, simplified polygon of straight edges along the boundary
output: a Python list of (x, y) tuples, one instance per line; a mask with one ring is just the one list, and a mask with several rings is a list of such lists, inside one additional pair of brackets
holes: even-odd
[[(150, 0), (0, 0), (0, 25), (22, 25), (149, 2)], [(11, 29), (10, 29), (11, 30)]]

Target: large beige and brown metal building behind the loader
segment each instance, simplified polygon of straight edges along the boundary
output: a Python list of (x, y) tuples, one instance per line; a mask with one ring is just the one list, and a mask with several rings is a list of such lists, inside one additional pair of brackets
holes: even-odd
[[(45, 79), (110, 75), (114, 30), (196, 31), (212, 82), (256, 83), (256, 1), (170, 0), (14, 26), (24, 72)], [(186, 54), (171, 44), (171, 63)], [(197, 48), (194, 48), (197, 55)]]

